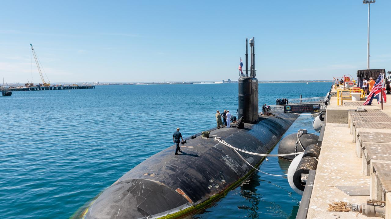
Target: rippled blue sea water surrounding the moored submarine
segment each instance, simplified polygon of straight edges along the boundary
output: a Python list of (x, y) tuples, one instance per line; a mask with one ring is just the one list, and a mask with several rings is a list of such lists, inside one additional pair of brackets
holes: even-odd
[[(326, 95), (332, 83), (260, 83), (259, 104)], [(215, 126), (217, 109), (237, 109), (237, 84), (111, 85), (0, 96), (0, 218), (68, 218), (124, 173)], [(311, 127), (296, 121), (285, 134)], [(274, 148), (272, 153), (276, 152)], [(270, 158), (274, 174), (289, 162)], [(254, 173), (188, 218), (290, 218), (301, 196), (285, 177)]]

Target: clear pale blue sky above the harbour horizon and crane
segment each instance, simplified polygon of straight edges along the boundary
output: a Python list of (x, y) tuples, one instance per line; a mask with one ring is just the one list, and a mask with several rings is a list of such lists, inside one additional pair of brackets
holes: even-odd
[[(259, 80), (366, 69), (368, 6), (314, 1), (2, 1), (0, 77), (27, 83), (32, 43), (51, 82), (238, 78), (255, 37)], [(391, 71), (391, 1), (371, 4), (371, 69)], [(34, 61), (33, 61), (34, 62)], [(39, 75), (33, 63), (34, 82)]]

